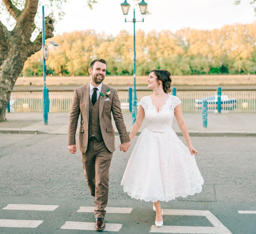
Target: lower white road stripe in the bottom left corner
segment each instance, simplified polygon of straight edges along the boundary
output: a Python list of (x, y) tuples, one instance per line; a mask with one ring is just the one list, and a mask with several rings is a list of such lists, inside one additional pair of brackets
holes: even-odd
[(38, 227), (42, 220), (0, 219), (0, 227)]

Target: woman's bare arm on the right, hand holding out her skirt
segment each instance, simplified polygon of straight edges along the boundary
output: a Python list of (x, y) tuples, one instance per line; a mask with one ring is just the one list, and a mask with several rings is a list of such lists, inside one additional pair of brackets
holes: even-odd
[(188, 128), (187, 128), (187, 124), (185, 123), (184, 119), (183, 119), (183, 115), (182, 115), (182, 109), (181, 109), (181, 104), (177, 105), (174, 109), (174, 115), (177, 119), (177, 123), (178, 123), (178, 127), (180, 128), (182, 135), (184, 136), (187, 144), (188, 144), (188, 148), (190, 150), (191, 154), (195, 154), (197, 155), (198, 152), (195, 150), (195, 148), (193, 147), (190, 137), (189, 137), (189, 133), (188, 133)]

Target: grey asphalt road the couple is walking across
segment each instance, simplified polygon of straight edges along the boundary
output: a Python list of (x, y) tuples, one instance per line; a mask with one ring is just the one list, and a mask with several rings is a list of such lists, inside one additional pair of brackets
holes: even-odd
[[(132, 147), (136, 139), (132, 141)], [(256, 214), (238, 212), (256, 211), (255, 139), (191, 137), (199, 151), (196, 161), (204, 178), (203, 191), (162, 202), (162, 208), (167, 211), (163, 216), (164, 227), (157, 231), (164, 232), (170, 226), (177, 226), (178, 230), (188, 228), (188, 232), (183, 233), (195, 233), (191, 227), (199, 226), (197, 233), (209, 233), (203, 230), (214, 228), (216, 223), (211, 220), (216, 218), (219, 227), (224, 227), (216, 233), (255, 234)], [(1, 220), (7, 219), (43, 221), (36, 228), (0, 227), (0, 233), (96, 232), (61, 228), (67, 221), (94, 222), (93, 213), (77, 212), (81, 206), (92, 207), (93, 199), (86, 186), (80, 152), (70, 154), (66, 143), (67, 135), (0, 134), (0, 226)], [(116, 137), (116, 147), (119, 144), (119, 137)], [(152, 203), (130, 199), (120, 186), (130, 152), (116, 151), (113, 155), (108, 207), (130, 207), (132, 212), (107, 213), (106, 223), (122, 224), (119, 233), (155, 232)], [(3, 209), (8, 204), (59, 207), (54, 211)], [(187, 215), (167, 215), (176, 209), (189, 211)], [(203, 213), (196, 215), (191, 210), (209, 211), (215, 218), (209, 220)]]

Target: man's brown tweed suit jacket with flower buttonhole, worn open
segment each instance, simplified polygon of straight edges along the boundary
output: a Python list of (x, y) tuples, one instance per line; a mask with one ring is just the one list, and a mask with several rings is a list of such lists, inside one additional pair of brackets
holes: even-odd
[[(123, 115), (121, 111), (121, 104), (117, 95), (117, 90), (111, 88), (105, 84), (102, 84), (101, 93), (106, 94), (109, 89), (111, 94), (109, 95), (110, 100), (105, 101), (107, 96), (100, 98), (100, 128), (101, 134), (105, 145), (110, 152), (115, 151), (115, 135), (114, 128), (111, 121), (111, 111), (114, 117), (116, 128), (120, 135), (121, 143), (129, 142), (130, 138), (126, 131), (126, 126), (123, 121)], [(102, 98), (102, 99), (101, 99)], [(75, 145), (75, 134), (78, 125), (78, 118), (81, 114), (81, 122), (79, 128), (78, 137), (78, 149), (83, 153), (87, 150), (88, 145), (88, 124), (89, 124), (89, 83), (75, 89), (70, 108), (69, 124), (68, 124), (68, 145)]]

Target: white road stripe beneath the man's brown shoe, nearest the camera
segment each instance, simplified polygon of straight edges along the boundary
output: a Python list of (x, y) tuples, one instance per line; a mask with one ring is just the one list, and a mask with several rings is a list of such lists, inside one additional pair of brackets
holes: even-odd
[[(122, 224), (119, 224), (119, 223), (106, 223), (106, 228), (104, 229), (104, 231), (119, 232), (121, 227), (122, 227)], [(76, 230), (92, 230), (92, 231), (95, 231), (95, 223), (67, 221), (61, 227), (61, 229), (76, 229)]]

